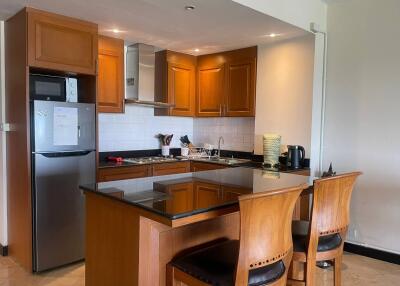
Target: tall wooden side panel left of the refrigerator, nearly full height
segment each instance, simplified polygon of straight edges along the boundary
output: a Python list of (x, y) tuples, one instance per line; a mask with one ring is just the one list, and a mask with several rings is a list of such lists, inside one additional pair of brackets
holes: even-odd
[(31, 153), (27, 18), (25, 9), (5, 22), (5, 116), (9, 255), (32, 271)]

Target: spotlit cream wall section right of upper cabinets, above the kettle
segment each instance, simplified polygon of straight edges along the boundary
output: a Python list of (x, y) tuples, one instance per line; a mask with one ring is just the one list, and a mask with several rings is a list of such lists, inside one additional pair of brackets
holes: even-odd
[(313, 34), (259, 46), (255, 152), (263, 134), (278, 133), (282, 145), (302, 145), (310, 156), (314, 71)]

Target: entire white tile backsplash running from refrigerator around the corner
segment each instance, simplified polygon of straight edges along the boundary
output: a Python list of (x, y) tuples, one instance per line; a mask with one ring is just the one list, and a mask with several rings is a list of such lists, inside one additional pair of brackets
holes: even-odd
[(174, 134), (172, 148), (179, 148), (179, 138), (188, 135), (196, 146), (204, 143), (222, 149), (252, 152), (254, 149), (254, 118), (188, 118), (154, 116), (154, 109), (126, 105), (123, 114), (99, 114), (99, 150), (125, 151), (158, 149), (156, 134)]

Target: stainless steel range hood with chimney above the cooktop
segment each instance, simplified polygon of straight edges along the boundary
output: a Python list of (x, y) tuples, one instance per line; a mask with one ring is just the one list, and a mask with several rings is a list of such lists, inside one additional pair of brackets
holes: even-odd
[(134, 44), (126, 51), (126, 104), (140, 104), (156, 108), (173, 105), (154, 100), (155, 49), (146, 44)]

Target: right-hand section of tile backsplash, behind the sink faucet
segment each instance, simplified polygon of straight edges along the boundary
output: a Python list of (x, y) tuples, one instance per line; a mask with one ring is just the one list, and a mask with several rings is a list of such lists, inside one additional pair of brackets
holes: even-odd
[(254, 118), (247, 117), (195, 118), (193, 141), (198, 146), (209, 143), (218, 148), (218, 139), (222, 136), (221, 149), (252, 152), (254, 123)]

